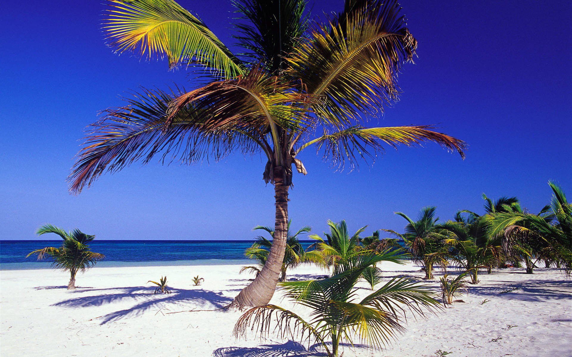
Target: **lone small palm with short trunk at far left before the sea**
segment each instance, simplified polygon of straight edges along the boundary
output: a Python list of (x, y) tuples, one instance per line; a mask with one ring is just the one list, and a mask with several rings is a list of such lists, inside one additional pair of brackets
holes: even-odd
[(45, 247), (34, 250), (26, 255), (26, 258), (37, 254), (38, 260), (51, 259), (53, 267), (69, 271), (68, 290), (76, 288), (76, 274), (78, 271), (85, 272), (98, 261), (105, 258), (103, 254), (92, 252), (88, 246), (88, 243), (95, 238), (94, 235), (85, 234), (78, 229), (66, 233), (62, 228), (52, 226), (51, 224), (39, 227), (36, 231), (37, 235), (46, 233), (55, 233), (61, 236), (63, 239), (62, 246), (59, 248)]

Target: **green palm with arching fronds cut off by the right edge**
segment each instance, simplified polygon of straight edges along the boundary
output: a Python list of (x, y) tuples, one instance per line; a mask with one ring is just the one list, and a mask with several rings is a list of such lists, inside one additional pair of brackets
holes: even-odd
[(488, 218), (493, 234), (502, 234), (503, 247), (509, 254), (525, 260), (526, 271), (533, 273), (533, 256), (553, 257), (570, 274), (572, 270), (572, 204), (558, 184), (549, 181), (553, 191), (550, 206), (539, 214), (530, 214), (518, 204), (505, 206)]

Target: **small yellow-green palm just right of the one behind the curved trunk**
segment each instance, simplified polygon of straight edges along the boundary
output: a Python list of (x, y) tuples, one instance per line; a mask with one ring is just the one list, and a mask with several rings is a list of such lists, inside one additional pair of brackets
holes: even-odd
[(345, 220), (341, 220), (339, 223), (328, 220), (328, 226), (329, 233), (324, 233), (325, 240), (317, 234), (309, 236), (309, 238), (315, 239), (317, 242), (309, 246), (308, 250), (312, 251), (313, 249), (313, 251), (318, 252), (324, 259), (325, 266), (332, 267), (333, 275), (335, 275), (344, 262), (370, 252), (363, 250), (359, 245), (359, 235), (366, 230), (367, 226), (359, 228), (352, 236), (349, 236)]

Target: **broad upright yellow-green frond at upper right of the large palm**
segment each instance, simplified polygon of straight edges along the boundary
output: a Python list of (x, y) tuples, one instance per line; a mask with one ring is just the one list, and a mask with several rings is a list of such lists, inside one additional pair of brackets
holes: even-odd
[(399, 9), (395, 1), (368, 2), (347, 14), (344, 28), (335, 20), (317, 26), (288, 58), (288, 74), (323, 97), (315, 111), (324, 122), (351, 125), (356, 109), (382, 111), (396, 99), (395, 76), (417, 47)]

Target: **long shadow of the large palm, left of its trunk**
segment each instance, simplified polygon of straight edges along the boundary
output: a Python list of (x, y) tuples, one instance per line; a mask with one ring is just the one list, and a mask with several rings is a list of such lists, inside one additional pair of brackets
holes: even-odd
[[(239, 289), (233, 289), (239, 290)], [(216, 310), (231, 303), (232, 298), (224, 296), (220, 292), (208, 291), (202, 289), (172, 289), (172, 294), (153, 294), (154, 288), (146, 286), (130, 286), (130, 287), (116, 287), (107, 289), (85, 289), (81, 292), (88, 291), (112, 291), (112, 293), (81, 296), (78, 298), (71, 298), (62, 300), (52, 306), (66, 306), (66, 307), (88, 307), (88, 306), (102, 306), (104, 304), (123, 302), (125, 300), (132, 300), (138, 302), (135, 306), (125, 310), (118, 310), (110, 312), (109, 314), (101, 316), (101, 323), (105, 324), (125, 317), (132, 317), (141, 315), (143, 312), (150, 308), (166, 308), (177, 306), (180, 304), (197, 303), (199, 306), (210, 304), (212, 307), (198, 307), (198, 309)], [(113, 292), (120, 291), (120, 292)], [(168, 305), (167, 305), (168, 304)], [(188, 307), (188, 305), (184, 305)], [(183, 308), (184, 308), (183, 307)]]

